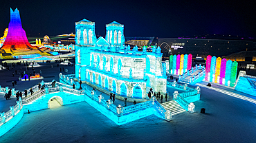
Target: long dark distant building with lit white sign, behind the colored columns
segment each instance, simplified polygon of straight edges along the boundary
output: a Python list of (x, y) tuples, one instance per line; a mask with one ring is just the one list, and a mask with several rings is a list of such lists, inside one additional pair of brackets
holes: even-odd
[(158, 46), (165, 57), (170, 54), (192, 54), (193, 58), (201, 56), (205, 59), (208, 55), (222, 57), (256, 50), (255, 45), (253, 41), (232, 39), (158, 39)]

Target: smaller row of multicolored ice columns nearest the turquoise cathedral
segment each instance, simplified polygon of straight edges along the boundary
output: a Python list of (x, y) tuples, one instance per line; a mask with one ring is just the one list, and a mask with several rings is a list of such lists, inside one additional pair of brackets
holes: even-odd
[(192, 54), (171, 55), (169, 60), (169, 73), (182, 75), (192, 68)]

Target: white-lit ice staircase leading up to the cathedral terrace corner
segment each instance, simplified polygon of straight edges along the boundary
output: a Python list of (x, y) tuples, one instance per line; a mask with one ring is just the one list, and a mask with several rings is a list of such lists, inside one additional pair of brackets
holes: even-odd
[(172, 115), (176, 115), (185, 111), (185, 109), (183, 109), (183, 107), (181, 107), (181, 105), (175, 100), (164, 102), (161, 105), (165, 108), (165, 110), (171, 110)]

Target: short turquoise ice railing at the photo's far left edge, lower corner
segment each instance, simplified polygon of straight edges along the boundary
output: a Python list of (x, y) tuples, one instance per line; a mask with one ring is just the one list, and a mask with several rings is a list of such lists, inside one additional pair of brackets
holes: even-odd
[(15, 106), (10, 107), (10, 110), (6, 113), (0, 113), (0, 126), (11, 120), (15, 115), (17, 115), (17, 113), (19, 113), (19, 111), (21, 111), (23, 107), (21, 98), (19, 98), (19, 101), (16, 101), (16, 103), (17, 104)]

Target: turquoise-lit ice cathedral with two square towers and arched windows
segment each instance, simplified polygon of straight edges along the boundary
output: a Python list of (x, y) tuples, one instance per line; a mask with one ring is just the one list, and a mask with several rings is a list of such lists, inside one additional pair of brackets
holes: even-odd
[(109, 90), (118, 96), (146, 98), (150, 88), (166, 93), (166, 67), (160, 47), (153, 52), (125, 46), (124, 25), (106, 25), (106, 38), (96, 39), (95, 23), (75, 23), (75, 78)]

